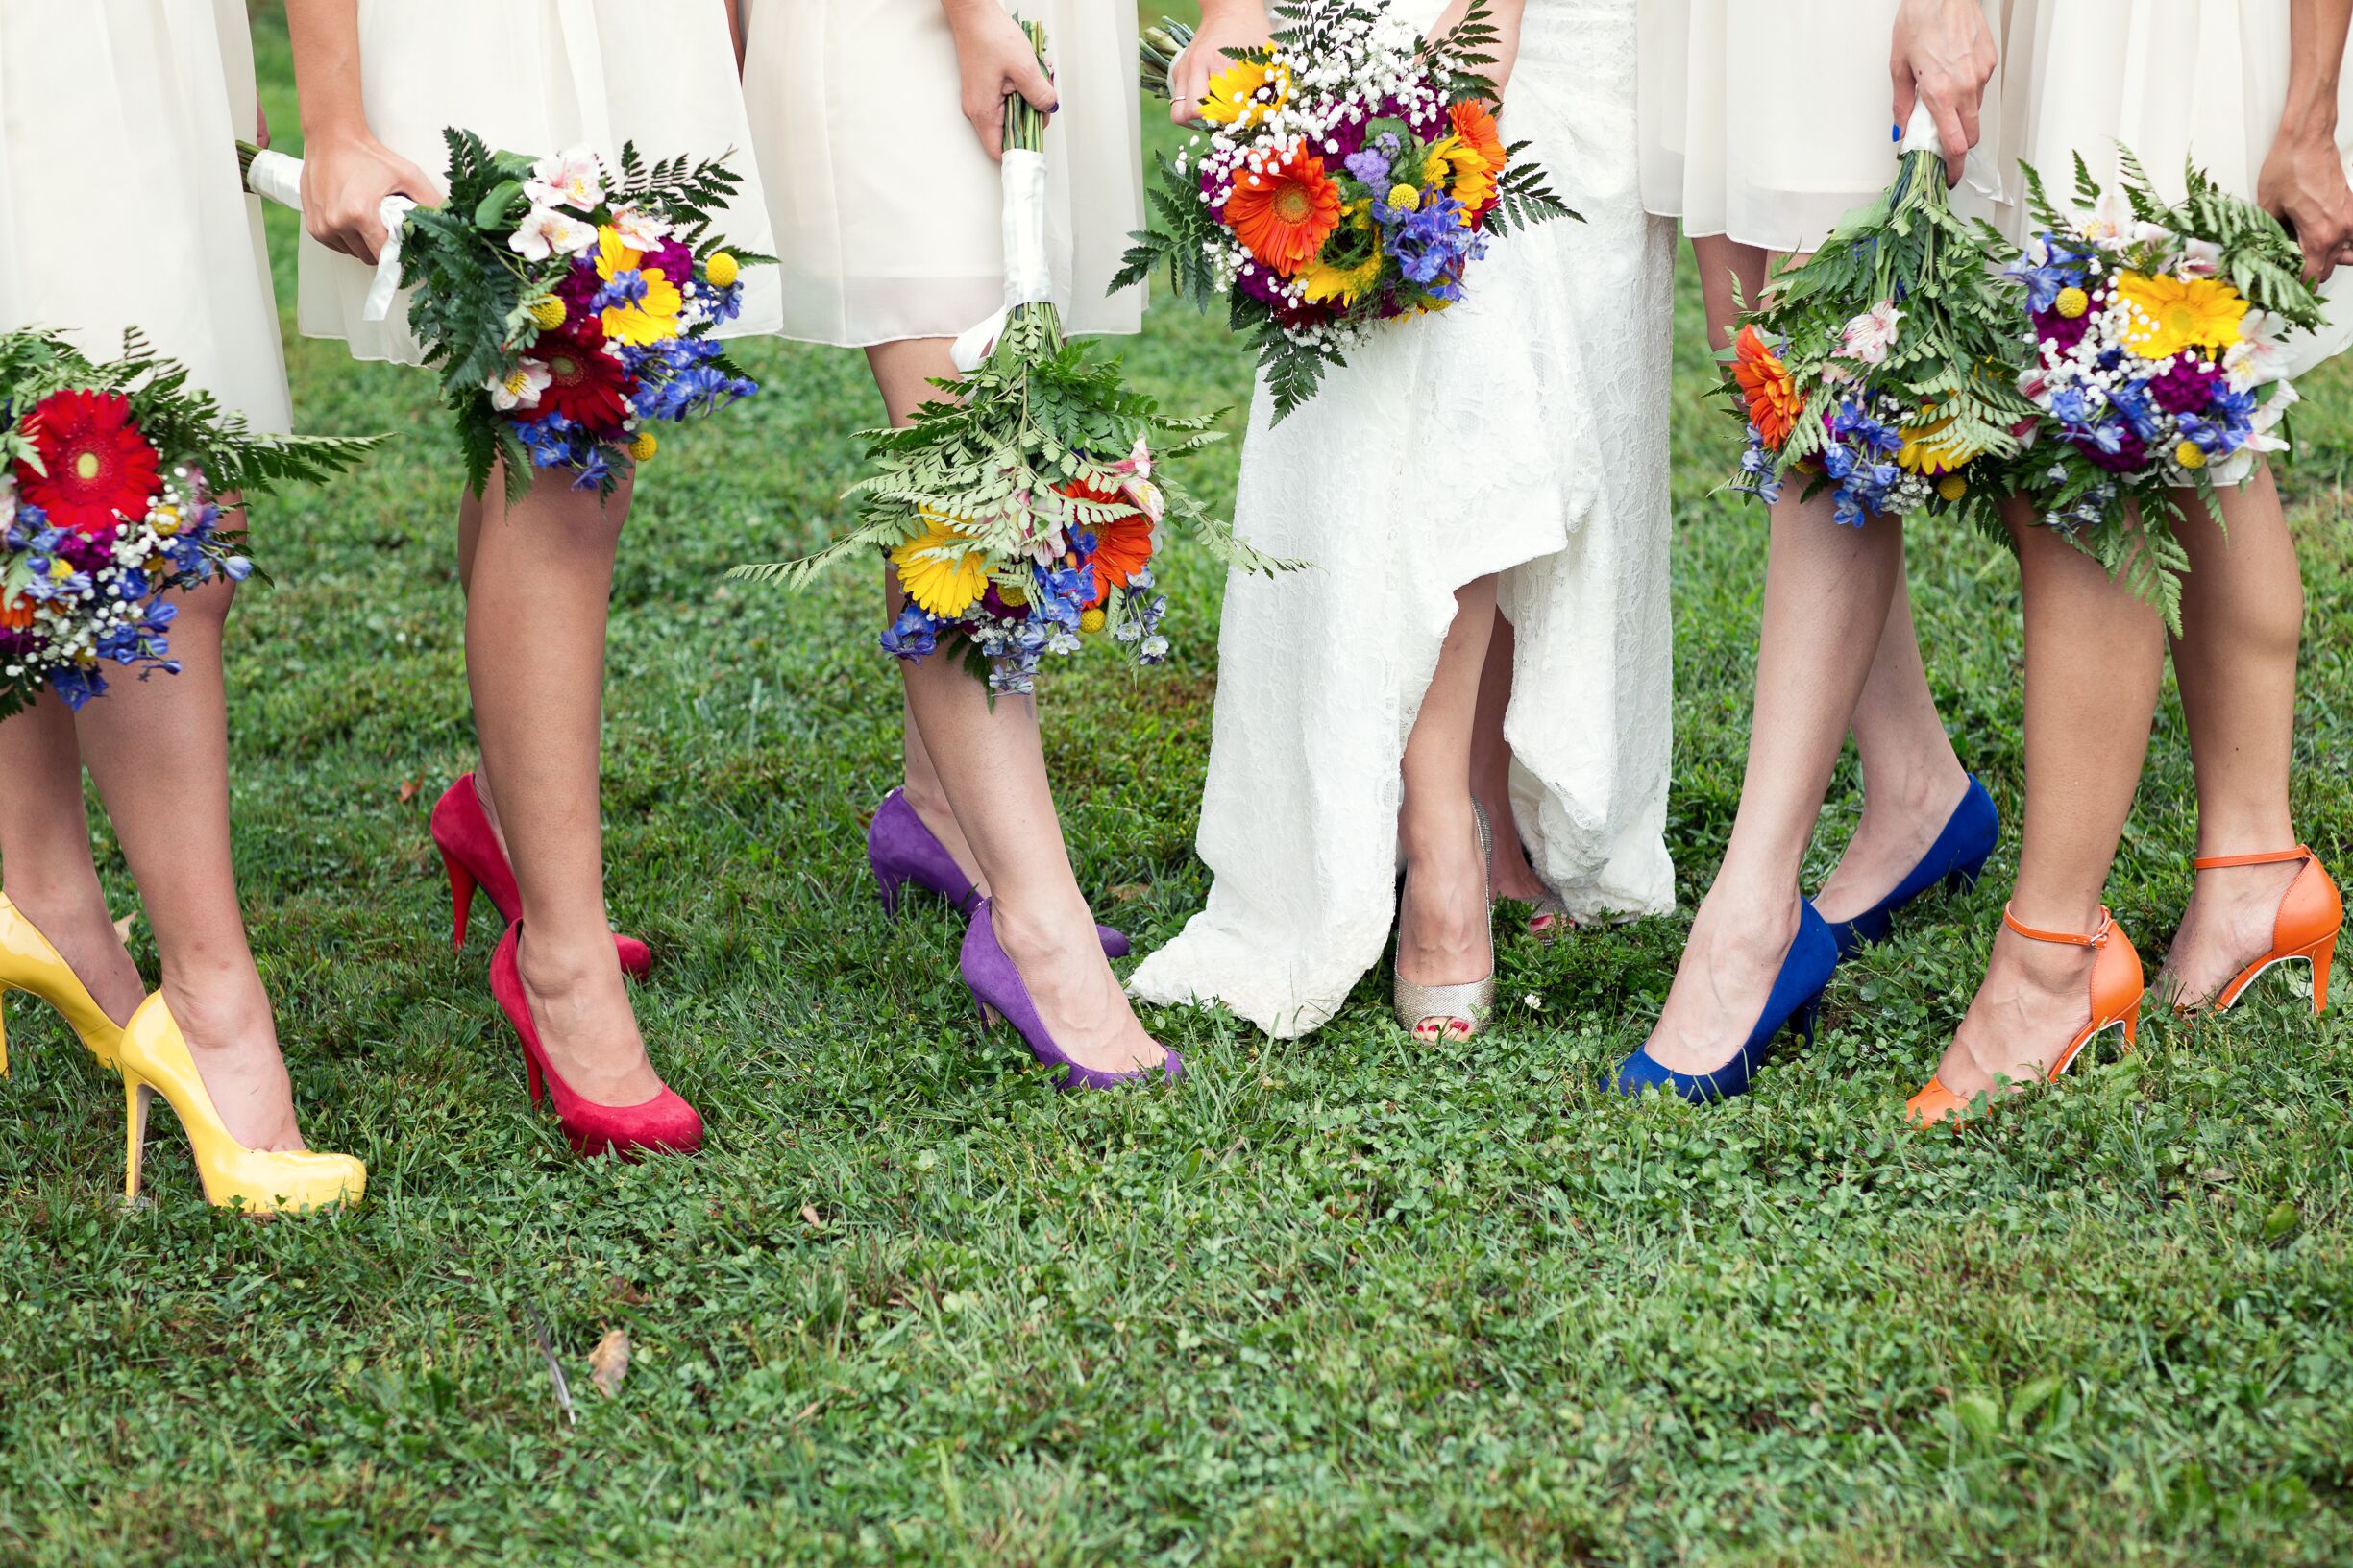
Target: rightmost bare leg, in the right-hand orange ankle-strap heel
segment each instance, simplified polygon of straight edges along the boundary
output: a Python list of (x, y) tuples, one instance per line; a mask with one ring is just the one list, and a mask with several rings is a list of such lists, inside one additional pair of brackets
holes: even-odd
[[(2304, 576), (2266, 465), (2221, 496), (2224, 527), (2191, 496), (2177, 531), (2191, 552), (2181, 583), (2174, 679), (2198, 771), (2198, 853), (2252, 856), (2297, 844), (2287, 769), (2297, 731)], [(2271, 929), (2301, 865), (2198, 872), (2191, 907), (2165, 952), (2160, 994), (2198, 1004), (2271, 952)]]

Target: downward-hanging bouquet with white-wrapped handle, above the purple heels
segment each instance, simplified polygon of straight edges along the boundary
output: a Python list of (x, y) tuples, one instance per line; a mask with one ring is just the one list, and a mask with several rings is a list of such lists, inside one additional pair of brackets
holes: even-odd
[[(1045, 59), (1045, 31), (1026, 31)], [(1047, 654), (1094, 637), (1144, 665), (1167, 658), (1153, 559), (1169, 517), (1231, 564), (1285, 564), (1167, 482), (1167, 458), (1221, 440), (1212, 418), (1162, 416), (1115, 362), (1064, 339), (1045, 261), (1042, 148), (1045, 115), (1007, 99), (1007, 308), (958, 343), (965, 374), (934, 383), (944, 400), (906, 428), (866, 433), (873, 473), (849, 491), (859, 524), (809, 559), (729, 574), (800, 585), (826, 562), (882, 550), (906, 592), (882, 646), (922, 661), (953, 642), (998, 693), (1035, 689)]]

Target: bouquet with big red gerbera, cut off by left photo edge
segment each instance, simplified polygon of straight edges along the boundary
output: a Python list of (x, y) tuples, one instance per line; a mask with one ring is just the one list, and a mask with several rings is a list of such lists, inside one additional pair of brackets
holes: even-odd
[(136, 334), (106, 364), (0, 334), (0, 717), (42, 689), (80, 708), (106, 665), (176, 675), (167, 595), (252, 574), (219, 498), (325, 480), (374, 444), (254, 435)]

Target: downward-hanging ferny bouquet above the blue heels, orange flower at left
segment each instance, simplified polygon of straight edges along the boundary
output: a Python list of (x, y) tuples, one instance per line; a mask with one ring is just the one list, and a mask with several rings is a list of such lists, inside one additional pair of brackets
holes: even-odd
[(1953, 212), (1934, 120), (1904, 136), (1897, 179), (1781, 270), (1729, 350), (1748, 421), (1734, 489), (1767, 505), (1791, 475), (1838, 522), (1965, 512), (2000, 529), (2000, 475), (2033, 407), (2014, 383), (2005, 252)]

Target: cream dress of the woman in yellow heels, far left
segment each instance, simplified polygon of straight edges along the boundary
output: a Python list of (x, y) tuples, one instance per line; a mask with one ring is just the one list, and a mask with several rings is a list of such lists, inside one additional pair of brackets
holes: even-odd
[(287, 430), (242, 0), (0, 0), (0, 329), (94, 357), (139, 327), (256, 430)]

